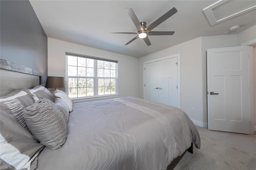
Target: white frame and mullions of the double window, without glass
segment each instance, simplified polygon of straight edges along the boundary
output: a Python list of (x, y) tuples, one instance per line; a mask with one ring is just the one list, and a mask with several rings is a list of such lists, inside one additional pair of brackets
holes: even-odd
[[(79, 102), (79, 101), (90, 101), (90, 100), (98, 100), (98, 99), (106, 99), (106, 98), (114, 98), (118, 97), (118, 61), (111, 60), (111, 59), (105, 59), (100, 57), (93, 57), (89, 55), (80, 55), (75, 53), (68, 53), (66, 52), (66, 94), (68, 95), (68, 77), (79, 77), (79, 76), (68, 76), (68, 55), (74, 56), (74, 57), (84, 57), (88, 59), (94, 59), (94, 77), (80, 77), (80, 78), (93, 78), (94, 79), (94, 96), (88, 96), (88, 97), (74, 97), (71, 98), (73, 102)], [(116, 63), (116, 77), (98, 77), (98, 64), (97, 61), (108, 61), (108, 62), (114, 62)], [(107, 95), (98, 95), (98, 79), (100, 78), (109, 78), (109, 79), (116, 79), (116, 93), (115, 94), (107, 94)]]

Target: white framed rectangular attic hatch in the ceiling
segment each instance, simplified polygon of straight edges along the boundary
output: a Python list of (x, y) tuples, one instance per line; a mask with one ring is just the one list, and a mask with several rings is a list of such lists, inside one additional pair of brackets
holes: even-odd
[(256, 9), (254, 0), (219, 0), (203, 9), (211, 26)]

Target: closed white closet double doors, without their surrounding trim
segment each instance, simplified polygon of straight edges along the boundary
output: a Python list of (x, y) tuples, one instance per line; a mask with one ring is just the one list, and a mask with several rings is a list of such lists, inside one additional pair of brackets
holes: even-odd
[(177, 57), (145, 64), (145, 99), (178, 107)]

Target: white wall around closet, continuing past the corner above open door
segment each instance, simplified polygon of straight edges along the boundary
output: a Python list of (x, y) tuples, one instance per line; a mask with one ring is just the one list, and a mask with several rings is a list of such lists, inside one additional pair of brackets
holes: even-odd
[[(209, 48), (238, 46), (238, 36), (207, 36), (139, 58), (139, 97), (143, 98), (143, 63), (153, 59), (181, 53), (181, 109), (200, 126), (207, 127), (207, 70), (206, 50)], [(196, 108), (193, 113), (192, 107)]]

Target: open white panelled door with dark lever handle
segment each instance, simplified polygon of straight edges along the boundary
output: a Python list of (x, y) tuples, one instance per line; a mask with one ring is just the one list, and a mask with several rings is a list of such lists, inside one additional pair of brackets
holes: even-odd
[(208, 129), (250, 133), (249, 48), (207, 49)]

